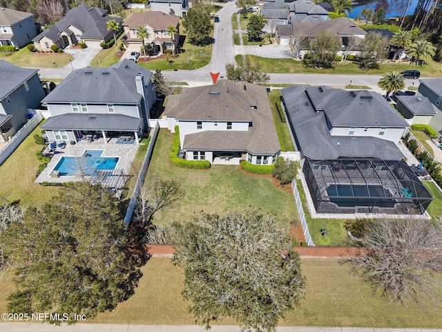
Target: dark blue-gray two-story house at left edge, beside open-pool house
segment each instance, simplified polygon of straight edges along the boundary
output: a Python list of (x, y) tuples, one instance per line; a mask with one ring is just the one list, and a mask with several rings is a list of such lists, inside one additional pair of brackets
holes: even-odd
[[(44, 98), (37, 69), (20, 68), (0, 60), (0, 142), (5, 142), (26, 123)], [(8, 84), (6, 84), (8, 82)]]

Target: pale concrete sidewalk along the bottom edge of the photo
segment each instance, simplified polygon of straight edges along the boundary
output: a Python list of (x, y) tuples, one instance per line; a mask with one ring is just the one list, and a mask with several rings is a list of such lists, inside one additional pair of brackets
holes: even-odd
[[(131, 324), (76, 324), (52, 326), (39, 323), (0, 323), (2, 332), (204, 332), (198, 325), (131, 325)], [(238, 332), (232, 325), (212, 325), (211, 332)], [(442, 332), (442, 329), (374, 329), (360, 327), (280, 326), (278, 332)]]

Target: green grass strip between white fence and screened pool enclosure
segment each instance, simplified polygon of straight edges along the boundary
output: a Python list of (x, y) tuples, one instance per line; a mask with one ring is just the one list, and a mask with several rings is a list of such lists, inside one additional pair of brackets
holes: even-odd
[[(307, 200), (305, 199), (305, 192), (300, 180), (296, 180), (299, 194), (302, 201), (302, 208), (304, 208), (305, 219), (311, 239), (315, 246), (347, 246), (347, 232), (344, 228), (345, 219), (313, 219), (311, 218), (309, 209), (307, 208)], [(328, 235), (323, 236), (321, 229), (325, 228)]]

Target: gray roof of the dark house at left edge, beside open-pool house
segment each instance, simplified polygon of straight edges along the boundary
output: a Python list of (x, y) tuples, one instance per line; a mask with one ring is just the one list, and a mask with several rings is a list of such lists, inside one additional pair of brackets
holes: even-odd
[(0, 84), (0, 100), (6, 98), (7, 95), (21, 86), (23, 82), (29, 80), (37, 71), (37, 69), (21, 68), (0, 59), (0, 82), (8, 82), (8, 84)]

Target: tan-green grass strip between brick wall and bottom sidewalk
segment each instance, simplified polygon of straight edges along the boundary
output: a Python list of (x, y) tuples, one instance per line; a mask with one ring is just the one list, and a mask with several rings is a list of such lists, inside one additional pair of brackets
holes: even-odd
[[(305, 298), (298, 308), (287, 312), (280, 326), (438, 328), (442, 324), (440, 309), (434, 304), (390, 302), (388, 297), (374, 293), (338, 259), (302, 259), (301, 270), (307, 278)], [(100, 313), (86, 322), (194, 324), (181, 295), (182, 270), (168, 257), (153, 257), (142, 272), (135, 295), (114, 311)], [(234, 322), (226, 319), (216, 324)]]

